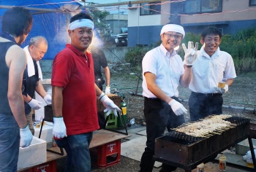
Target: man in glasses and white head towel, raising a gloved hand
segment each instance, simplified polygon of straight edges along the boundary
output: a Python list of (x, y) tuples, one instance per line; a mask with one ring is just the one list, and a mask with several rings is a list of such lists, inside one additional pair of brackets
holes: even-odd
[[(154, 166), (154, 140), (165, 132), (165, 128), (176, 128), (185, 122), (187, 109), (178, 101), (178, 85), (188, 87), (191, 66), (184, 65), (174, 48), (185, 36), (182, 26), (167, 24), (162, 27), (162, 44), (146, 53), (143, 58), (143, 96), (146, 118), (147, 141), (141, 157), (140, 172), (152, 171)], [(186, 60), (195, 58), (195, 49), (189, 42)], [(184, 49), (185, 50), (185, 49)], [(176, 167), (162, 164), (160, 171), (175, 171)]]

